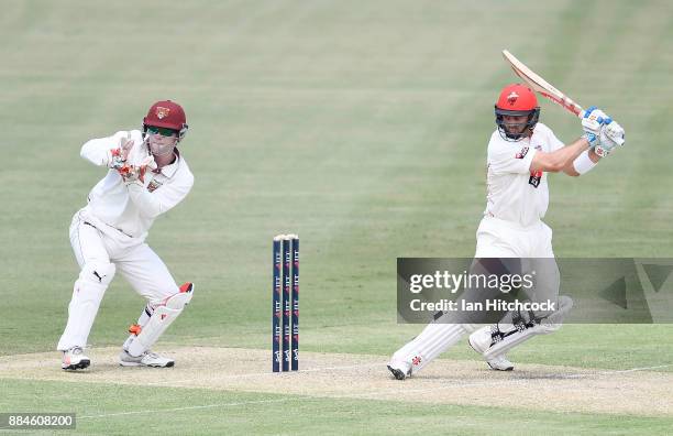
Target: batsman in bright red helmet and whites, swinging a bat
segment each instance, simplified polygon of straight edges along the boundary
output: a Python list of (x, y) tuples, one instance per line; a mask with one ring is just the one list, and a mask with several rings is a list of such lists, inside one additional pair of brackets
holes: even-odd
[[(542, 221), (549, 205), (548, 174), (586, 174), (624, 144), (625, 132), (603, 110), (591, 107), (581, 113), (582, 137), (564, 145), (539, 118), (532, 89), (521, 84), (503, 88), (495, 103), (496, 130), (487, 149), (486, 209), (476, 232), (475, 258), (547, 260), (545, 275), (556, 282), (558, 293), (552, 230)], [(440, 317), (393, 355), (388, 370), (402, 380), (465, 334), (471, 334), (470, 345), (492, 369), (512, 370), (514, 363), (506, 356), (511, 348), (561, 327), (572, 299), (560, 296), (556, 303), (551, 314), (510, 313), (500, 323), (482, 328), (450, 324)]]

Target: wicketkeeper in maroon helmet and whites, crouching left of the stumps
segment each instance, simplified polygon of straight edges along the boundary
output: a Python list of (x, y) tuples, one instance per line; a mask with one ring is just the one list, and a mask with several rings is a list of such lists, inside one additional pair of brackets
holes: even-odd
[(176, 284), (145, 238), (154, 220), (189, 193), (194, 176), (177, 145), (187, 133), (183, 108), (170, 100), (152, 105), (142, 130), (92, 139), (81, 156), (107, 168), (88, 204), (70, 225), (70, 243), (80, 271), (68, 306), (68, 321), (57, 349), (64, 370), (89, 367), (87, 339), (106, 290), (120, 273), (147, 304), (122, 345), (124, 367), (173, 367), (151, 350), (191, 299), (194, 285)]

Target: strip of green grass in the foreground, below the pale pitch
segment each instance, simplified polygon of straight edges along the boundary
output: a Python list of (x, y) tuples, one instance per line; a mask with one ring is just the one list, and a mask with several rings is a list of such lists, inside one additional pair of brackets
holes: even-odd
[[(411, 434), (520, 435), (536, 433), (663, 434), (673, 419), (511, 411), (501, 407), (418, 405), (391, 401), (334, 400), (297, 395), (212, 392), (198, 389), (82, 385), (0, 380), (14, 399), (0, 407), (49, 408), (67, 389), (68, 407), (78, 411), (77, 429), (89, 434)], [(120, 401), (122, 400), (122, 401)], [(147, 406), (150, 404), (150, 406)], [(147, 410), (148, 408), (148, 410)], [(104, 411), (104, 412), (102, 412)], [(165, 411), (165, 412), (162, 412)], [(145, 413), (150, 412), (150, 413)], [(64, 432), (58, 432), (58, 434)], [(42, 434), (42, 432), (40, 433)], [(621, 433), (619, 433), (621, 434)]]

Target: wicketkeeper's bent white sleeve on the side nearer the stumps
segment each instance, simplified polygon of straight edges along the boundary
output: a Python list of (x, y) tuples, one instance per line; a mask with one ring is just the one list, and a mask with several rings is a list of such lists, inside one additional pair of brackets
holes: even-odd
[(133, 201), (142, 215), (148, 218), (157, 216), (170, 210), (180, 203), (194, 185), (194, 176), (185, 177), (183, 182), (163, 185), (161, 188), (151, 193), (140, 183), (129, 183), (129, 197)]

